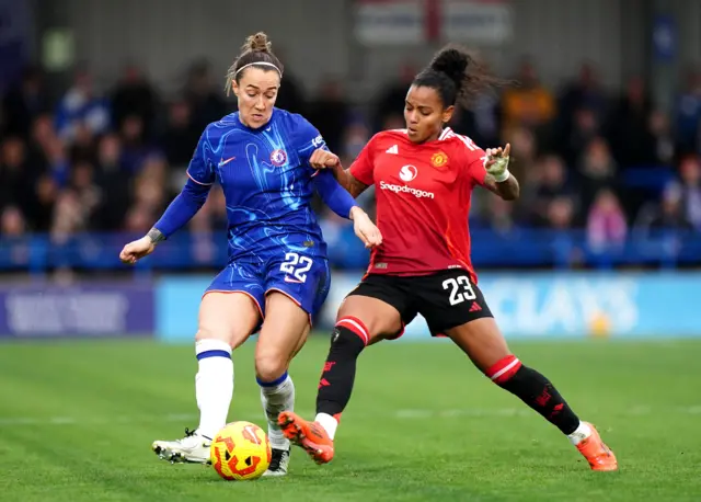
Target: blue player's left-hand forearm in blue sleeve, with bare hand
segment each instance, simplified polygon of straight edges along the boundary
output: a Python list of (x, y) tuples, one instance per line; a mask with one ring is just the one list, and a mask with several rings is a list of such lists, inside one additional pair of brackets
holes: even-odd
[(164, 241), (189, 221), (207, 201), (211, 185), (203, 185), (187, 180), (183, 191), (168, 206), (161, 219), (141, 239), (129, 242), (119, 253), (123, 263), (133, 265), (156, 249), (156, 244)]

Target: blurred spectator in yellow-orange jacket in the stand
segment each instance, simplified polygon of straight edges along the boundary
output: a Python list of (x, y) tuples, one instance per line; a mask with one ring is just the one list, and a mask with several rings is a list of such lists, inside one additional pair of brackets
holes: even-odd
[(543, 127), (555, 116), (553, 95), (540, 83), (536, 67), (530, 60), (524, 60), (516, 80), (519, 85), (506, 89), (503, 95), (503, 133), (508, 135), (518, 126), (542, 133)]

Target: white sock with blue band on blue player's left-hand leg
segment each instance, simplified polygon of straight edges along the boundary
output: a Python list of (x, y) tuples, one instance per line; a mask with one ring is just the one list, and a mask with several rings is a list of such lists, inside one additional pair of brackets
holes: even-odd
[(199, 370), (195, 376), (195, 395), (199, 408), (197, 432), (214, 438), (227, 424), (233, 396), (231, 345), (220, 340), (200, 340), (195, 344)]

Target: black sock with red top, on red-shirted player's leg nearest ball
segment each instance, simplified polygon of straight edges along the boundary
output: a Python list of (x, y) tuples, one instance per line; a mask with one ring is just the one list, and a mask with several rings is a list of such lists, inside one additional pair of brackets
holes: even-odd
[(366, 339), (361, 332), (356, 332), (360, 330), (343, 321), (338, 321), (331, 334), (331, 349), (317, 393), (317, 413), (338, 415), (350, 399), (356, 362), (365, 349)]

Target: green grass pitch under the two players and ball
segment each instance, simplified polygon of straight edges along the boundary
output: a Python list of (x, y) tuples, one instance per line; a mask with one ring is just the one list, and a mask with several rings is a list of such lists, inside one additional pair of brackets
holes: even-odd
[[(307, 417), (326, 346), (312, 339), (292, 365)], [(429, 341), (382, 343), (360, 357), (332, 464), (295, 450), (285, 479), (227, 482), (150, 450), (197, 425), (192, 346), (26, 342), (0, 344), (0, 500), (701, 500), (701, 341), (513, 349), (599, 426), (619, 472), (589, 471), (553, 426), (450, 343)], [(263, 425), (252, 356), (251, 343), (234, 354), (229, 418)]]

